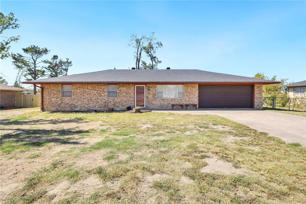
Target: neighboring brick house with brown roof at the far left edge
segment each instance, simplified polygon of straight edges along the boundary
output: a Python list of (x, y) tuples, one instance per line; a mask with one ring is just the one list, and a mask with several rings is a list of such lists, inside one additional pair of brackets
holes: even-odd
[(15, 106), (15, 95), (19, 91), (26, 91), (26, 89), (0, 84), (0, 105)]

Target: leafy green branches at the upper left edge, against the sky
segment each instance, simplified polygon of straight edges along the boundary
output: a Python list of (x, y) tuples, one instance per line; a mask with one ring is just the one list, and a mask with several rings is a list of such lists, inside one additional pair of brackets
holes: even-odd
[(3, 13), (0, 13), (0, 35), (6, 40), (0, 42), (0, 59), (5, 59), (9, 57), (9, 44), (11, 42), (17, 42), (20, 39), (20, 36), (5, 37), (2, 36), (2, 32), (6, 29), (16, 29), (19, 28), (17, 23), (18, 19), (14, 17), (14, 13), (9, 13), (5, 16)]

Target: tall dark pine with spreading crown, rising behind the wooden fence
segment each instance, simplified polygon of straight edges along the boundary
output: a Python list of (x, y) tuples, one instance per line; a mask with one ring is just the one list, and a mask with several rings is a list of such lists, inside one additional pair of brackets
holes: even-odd
[[(23, 56), (19, 53), (12, 54), (13, 65), (17, 70), (24, 70), (24, 77), (27, 81), (36, 80), (40, 77), (45, 76), (44, 66), (41, 63), (44, 61), (40, 61), (44, 55), (47, 55), (50, 50), (45, 48), (40, 48), (35, 45), (31, 45), (27, 48), (22, 48), (25, 54), (29, 56)], [(36, 86), (34, 85), (33, 93), (36, 94)]]

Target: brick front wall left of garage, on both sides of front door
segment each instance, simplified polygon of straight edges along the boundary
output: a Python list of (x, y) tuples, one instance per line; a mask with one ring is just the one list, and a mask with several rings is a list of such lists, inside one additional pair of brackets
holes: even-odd
[[(105, 84), (73, 84), (72, 96), (62, 97), (61, 84), (43, 85), (44, 111), (80, 111), (95, 109), (98, 111), (108, 108), (134, 107), (134, 84), (118, 84), (117, 97), (107, 97), (107, 85)], [(151, 90), (148, 91), (147, 89)], [(185, 84), (183, 99), (157, 99), (156, 84), (146, 85), (146, 108), (171, 108), (171, 104), (198, 104), (198, 85)]]

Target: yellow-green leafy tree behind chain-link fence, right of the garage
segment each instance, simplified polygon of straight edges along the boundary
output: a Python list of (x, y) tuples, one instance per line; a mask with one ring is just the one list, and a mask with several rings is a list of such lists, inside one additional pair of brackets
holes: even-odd
[[(274, 75), (272, 78), (264, 75), (264, 73), (257, 73), (254, 75), (254, 78), (258, 78), (258, 79), (267, 79), (267, 80), (271, 80), (271, 81), (277, 81), (276, 80), (276, 75)], [(284, 97), (284, 88), (281, 87), (282, 85), (284, 85), (286, 83), (288, 79), (281, 79), (279, 80), (280, 83), (279, 84), (266, 84), (263, 85), (263, 97)]]

